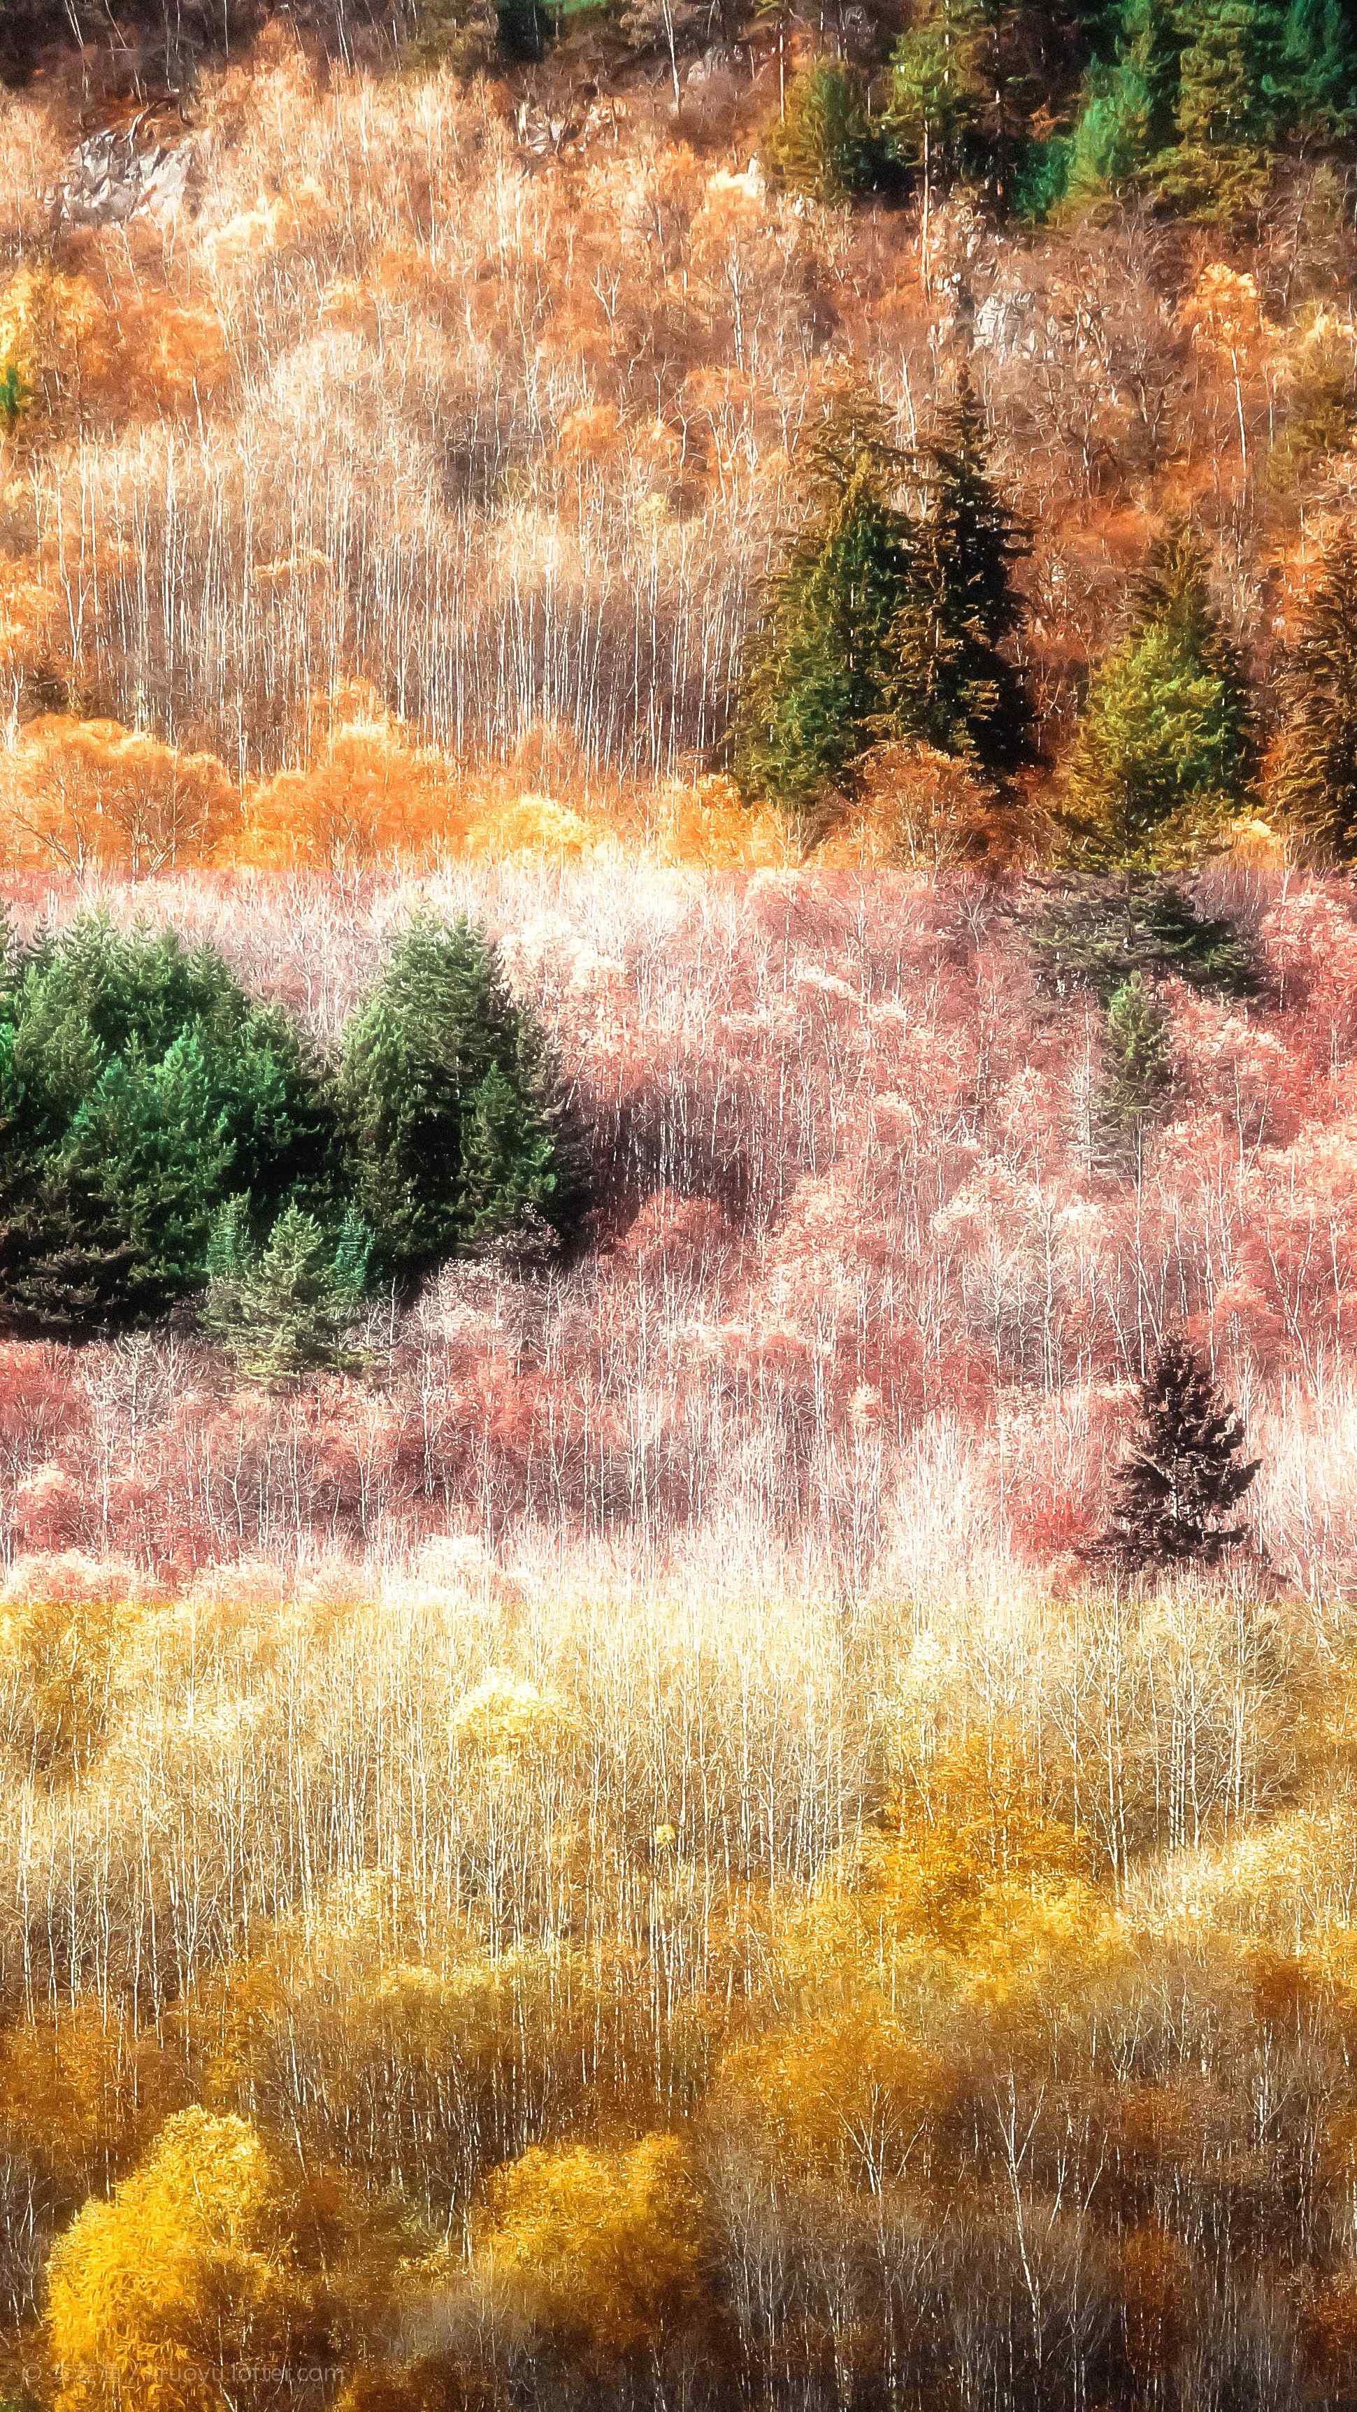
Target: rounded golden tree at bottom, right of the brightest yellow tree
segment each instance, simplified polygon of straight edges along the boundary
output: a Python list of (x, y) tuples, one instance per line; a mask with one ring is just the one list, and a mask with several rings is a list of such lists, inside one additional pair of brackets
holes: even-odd
[(475, 2238), (477, 2265), (600, 2364), (692, 2320), (706, 2250), (697, 2171), (672, 2135), (617, 2152), (535, 2144), (489, 2178)]

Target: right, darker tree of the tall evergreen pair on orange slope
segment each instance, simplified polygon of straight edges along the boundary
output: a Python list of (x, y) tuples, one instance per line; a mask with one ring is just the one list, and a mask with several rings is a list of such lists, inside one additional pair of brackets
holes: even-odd
[(892, 627), (889, 736), (962, 755), (991, 777), (1032, 762), (1032, 697), (1003, 651), (1024, 620), (1012, 586), (1024, 552), (1027, 538), (988, 475), (967, 384), (923, 463), (923, 514)]

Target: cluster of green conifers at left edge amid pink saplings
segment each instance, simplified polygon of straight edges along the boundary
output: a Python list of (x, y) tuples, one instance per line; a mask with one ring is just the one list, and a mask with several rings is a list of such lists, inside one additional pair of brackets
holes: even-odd
[(364, 1295), (578, 1211), (552, 1066), (468, 921), (388, 950), (333, 1061), (212, 948), (84, 917), (0, 955), (0, 1317), (195, 1300), (251, 1370), (337, 1360)]

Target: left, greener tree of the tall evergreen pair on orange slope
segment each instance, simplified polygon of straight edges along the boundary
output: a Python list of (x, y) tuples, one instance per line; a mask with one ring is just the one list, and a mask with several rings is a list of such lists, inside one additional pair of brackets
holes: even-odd
[(885, 412), (841, 405), (807, 456), (812, 511), (769, 586), (733, 728), (745, 796), (810, 813), (882, 733), (911, 535)]

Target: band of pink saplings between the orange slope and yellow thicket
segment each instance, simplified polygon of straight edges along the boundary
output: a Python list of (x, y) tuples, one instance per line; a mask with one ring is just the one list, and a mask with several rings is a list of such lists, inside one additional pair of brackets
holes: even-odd
[[(1246, 1401), (1345, 1368), (1357, 919), (1338, 885), (1261, 904), (1261, 1001), (1164, 991), (1174, 1095), (1133, 1179), (1087, 1143), (1097, 1006), (1041, 996), (979, 888), (458, 878), (434, 904), (489, 921), (552, 1028), (595, 1245), (547, 1278), (451, 1266), (374, 1334), (362, 1382), (246, 1389), (183, 1336), (2, 1348), (10, 1556), (188, 1580), (528, 1527), (663, 1556), (745, 1520), (841, 1541), (860, 1570), (918, 1435), (950, 1418), (998, 1544), (1061, 1563), (1162, 1329), (1186, 1324)], [(337, 914), (294, 880), (255, 883), (246, 912), (202, 880), (159, 897), (255, 987), (313, 999), (321, 1040), (405, 904)]]

